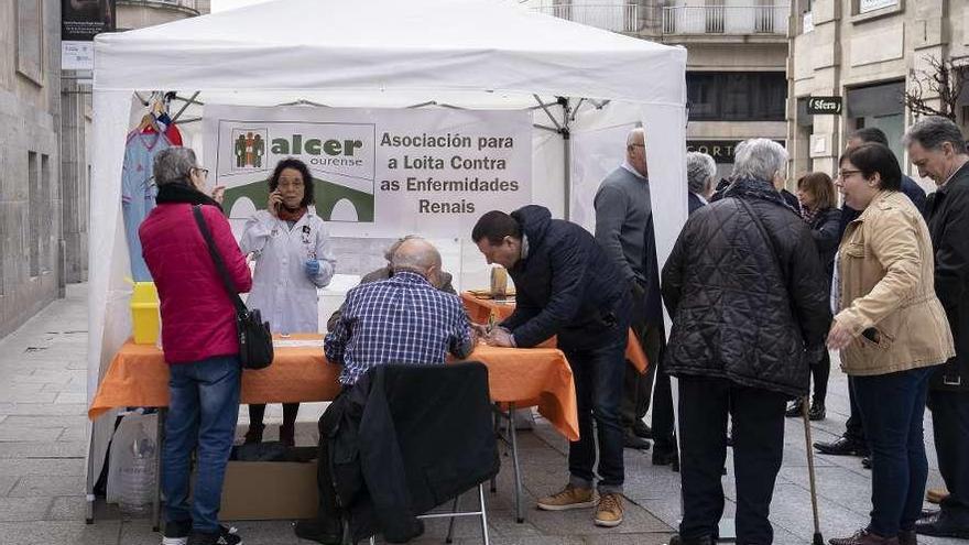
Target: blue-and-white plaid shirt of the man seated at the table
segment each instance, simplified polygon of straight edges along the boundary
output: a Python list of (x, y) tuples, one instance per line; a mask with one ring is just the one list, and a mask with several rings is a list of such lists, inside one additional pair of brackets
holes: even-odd
[(344, 314), (324, 341), (326, 358), (342, 364), (340, 383), (356, 384), (384, 363), (444, 363), (471, 351), (471, 330), (456, 295), (402, 271), (347, 293)]

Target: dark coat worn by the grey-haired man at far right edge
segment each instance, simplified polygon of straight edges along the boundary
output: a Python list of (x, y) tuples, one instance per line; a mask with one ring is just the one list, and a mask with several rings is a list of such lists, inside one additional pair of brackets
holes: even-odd
[[(969, 392), (969, 163), (928, 196), (925, 221), (935, 251), (935, 294), (956, 342), (956, 357), (935, 369), (929, 388)], [(954, 384), (957, 377), (960, 384)]]

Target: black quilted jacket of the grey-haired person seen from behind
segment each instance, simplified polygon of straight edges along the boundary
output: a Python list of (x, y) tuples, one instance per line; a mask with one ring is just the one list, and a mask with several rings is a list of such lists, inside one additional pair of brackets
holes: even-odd
[(738, 179), (716, 198), (689, 217), (663, 268), (666, 368), (804, 395), (816, 357), (806, 351), (820, 349), (831, 319), (810, 230), (766, 182)]

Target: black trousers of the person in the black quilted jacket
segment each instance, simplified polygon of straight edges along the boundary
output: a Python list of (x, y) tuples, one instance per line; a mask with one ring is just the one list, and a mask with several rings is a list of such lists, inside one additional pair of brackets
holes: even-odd
[(774, 481), (784, 457), (784, 411), (777, 392), (726, 379), (679, 378), (679, 445), (685, 539), (717, 536), (723, 514), (720, 481), (727, 459), (727, 415), (733, 419), (737, 476), (737, 543), (770, 544), (767, 520)]

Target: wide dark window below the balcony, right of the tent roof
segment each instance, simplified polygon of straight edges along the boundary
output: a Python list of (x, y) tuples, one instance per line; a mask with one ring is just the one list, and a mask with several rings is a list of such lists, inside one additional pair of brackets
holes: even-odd
[(781, 72), (692, 72), (692, 121), (784, 121), (787, 78)]

